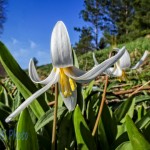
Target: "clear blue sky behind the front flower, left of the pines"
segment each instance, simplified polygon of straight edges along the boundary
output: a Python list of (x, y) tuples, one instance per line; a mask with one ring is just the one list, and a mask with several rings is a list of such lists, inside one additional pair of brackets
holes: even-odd
[(1, 40), (22, 68), (28, 68), (33, 57), (38, 59), (38, 65), (48, 64), (55, 23), (62, 20), (66, 24), (74, 44), (79, 39), (74, 27), (85, 25), (79, 18), (82, 9), (83, 0), (10, 0)]

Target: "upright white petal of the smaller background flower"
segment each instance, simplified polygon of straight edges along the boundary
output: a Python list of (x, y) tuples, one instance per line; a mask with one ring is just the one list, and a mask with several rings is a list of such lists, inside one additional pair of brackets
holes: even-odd
[(122, 57), (119, 59), (119, 65), (122, 69), (127, 69), (131, 66), (131, 59), (128, 51), (126, 50)]

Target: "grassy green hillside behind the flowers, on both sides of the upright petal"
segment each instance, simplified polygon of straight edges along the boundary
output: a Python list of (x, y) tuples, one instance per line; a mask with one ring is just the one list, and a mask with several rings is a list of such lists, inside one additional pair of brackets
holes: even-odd
[[(131, 63), (132, 65), (134, 65), (143, 55), (145, 50), (150, 51), (150, 38), (148, 37), (138, 38), (135, 41), (131, 41), (126, 44), (119, 44), (118, 48), (121, 48), (122, 46), (126, 46), (126, 49), (129, 51), (130, 56), (131, 56)], [(102, 61), (107, 59), (111, 50), (112, 50), (112, 47), (108, 47), (103, 50), (94, 51), (98, 62), (101, 63)], [(83, 70), (89, 70), (94, 66), (92, 51), (85, 53), (83, 55), (78, 55), (77, 59), (79, 62), (79, 67)], [(146, 60), (145, 67), (149, 68), (149, 66), (150, 66), (150, 56), (148, 56)], [(38, 72), (42, 78), (44, 78), (45, 76), (49, 74), (51, 68), (52, 68), (51, 64), (37, 67)], [(146, 72), (146, 74), (150, 74), (149, 72)], [(143, 74), (145, 74), (145, 72), (143, 72)]]

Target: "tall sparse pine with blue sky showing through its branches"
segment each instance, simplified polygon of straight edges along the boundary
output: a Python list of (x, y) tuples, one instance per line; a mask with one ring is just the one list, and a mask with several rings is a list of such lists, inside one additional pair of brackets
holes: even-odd
[[(109, 0), (84, 0), (84, 9), (81, 10), (80, 16), (81, 18), (89, 23), (87, 30), (90, 28), (91, 32), (91, 42), (94, 49), (99, 49), (99, 41), (100, 41), (100, 30), (106, 30), (108, 22), (110, 21), (109, 16), (107, 15), (107, 6)], [(80, 28), (81, 33), (85, 30), (84, 28)], [(82, 36), (81, 36), (82, 37)], [(85, 37), (85, 36), (84, 36)], [(80, 41), (81, 42), (81, 38)]]

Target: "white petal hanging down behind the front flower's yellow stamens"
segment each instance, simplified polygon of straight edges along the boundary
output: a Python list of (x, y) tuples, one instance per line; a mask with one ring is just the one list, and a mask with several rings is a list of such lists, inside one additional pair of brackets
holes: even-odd
[(62, 93), (61, 96), (68, 110), (73, 111), (77, 103), (77, 90), (73, 91), (70, 97), (65, 98)]

